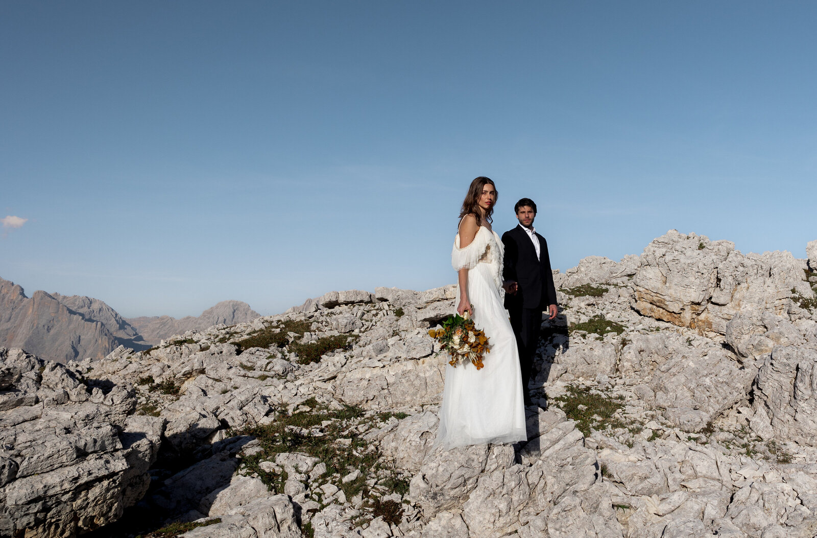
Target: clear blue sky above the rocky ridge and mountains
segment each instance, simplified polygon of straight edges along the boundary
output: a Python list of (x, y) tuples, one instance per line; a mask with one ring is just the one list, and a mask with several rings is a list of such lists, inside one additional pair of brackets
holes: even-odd
[(554, 268), (817, 239), (817, 2), (0, 2), (0, 276), (124, 316), (453, 283), (468, 183)]

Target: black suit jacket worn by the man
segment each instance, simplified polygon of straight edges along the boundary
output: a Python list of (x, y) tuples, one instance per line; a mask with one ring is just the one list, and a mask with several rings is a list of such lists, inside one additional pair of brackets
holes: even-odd
[(516, 295), (505, 294), (508, 311), (521, 308), (545, 310), (548, 305), (556, 304), (556, 286), (553, 285), (547, 241), (542, 235), (536, 236), (539, 239), (538, 259), (533, 241), (521, 226), (502, 234), (505, 245), (502, 278), (514, 280), (519, 285)]

